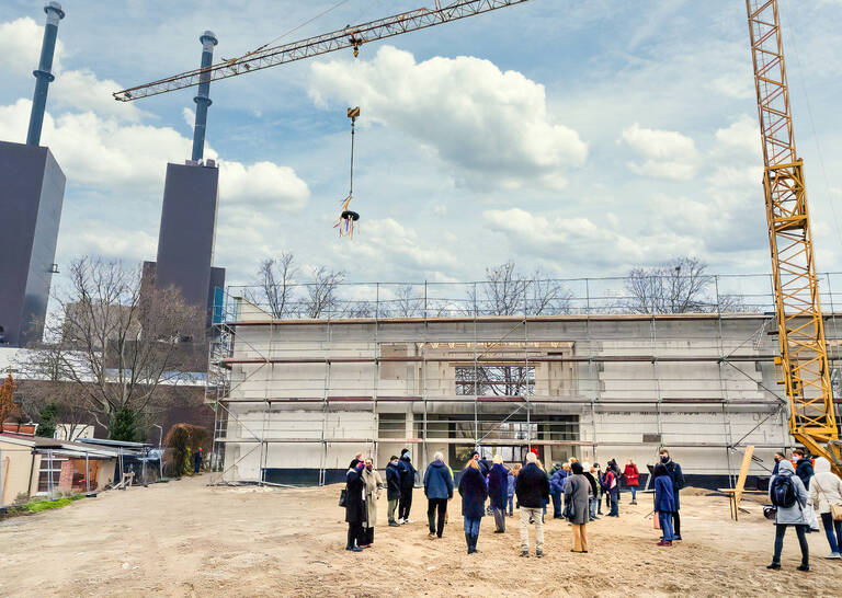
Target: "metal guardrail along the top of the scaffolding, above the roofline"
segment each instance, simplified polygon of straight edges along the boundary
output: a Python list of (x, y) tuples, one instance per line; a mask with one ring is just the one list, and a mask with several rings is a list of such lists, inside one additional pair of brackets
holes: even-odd
[[(823, 309), (842, 303), (842, 273), (818, 276)], [(621, 313), (774, 312), (771, 274), (311, 283), (229, 286), (282, 320)], [(221, 314), (221, 310), (217, 310)]]

